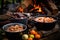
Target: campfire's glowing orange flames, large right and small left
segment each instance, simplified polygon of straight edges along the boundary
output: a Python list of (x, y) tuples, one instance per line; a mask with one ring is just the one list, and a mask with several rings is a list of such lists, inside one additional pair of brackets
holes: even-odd
[[(28, 8), (27, 8), (28, 9)], [(18, 11), (19, 12), (21, 12), (21, 13), (23, 13), (24, 12), (24, 9), (22, 8), (22, 7), (19, 7), (19, 9), (18, 9)], [(42, 8), (41, 8), (41, 6), (39, 6), (39, 5), (33, 5), (33, 8), (31, 8), (30, 10), (28, 10), (29, 12), (38, 12), (38, 13), (41, 13), (41, 12), (43, 12), (42, 11)]]

